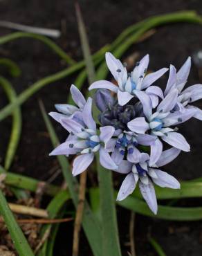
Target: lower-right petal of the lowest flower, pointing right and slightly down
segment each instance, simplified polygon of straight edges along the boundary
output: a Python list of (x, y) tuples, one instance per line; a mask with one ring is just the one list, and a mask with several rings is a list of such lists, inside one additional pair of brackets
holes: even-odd
[(155, 169), (155, 172), (158, 178), (152, 178), (152, 181), (154, 181), (156, 185), (159, 185), (162, 188), (181, 188), (181, 184), (174, 178), (174, 176), (158, 169)]

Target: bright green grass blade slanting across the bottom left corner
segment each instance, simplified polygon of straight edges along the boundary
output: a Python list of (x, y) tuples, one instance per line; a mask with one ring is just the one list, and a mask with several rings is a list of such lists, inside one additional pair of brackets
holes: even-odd
[(34, 256), (33, 251), (31, 250), (24, 233), (19, 228), (15, 217), (13, 216), (5, 196), (0, 190), (0, 213), (6, 223), (10, 237), (13, 241), (15, 249), (19, 256)]

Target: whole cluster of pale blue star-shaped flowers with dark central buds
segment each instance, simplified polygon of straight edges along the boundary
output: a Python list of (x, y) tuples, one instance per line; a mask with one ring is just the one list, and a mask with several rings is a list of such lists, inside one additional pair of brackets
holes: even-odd
[[(202, 110), (192, 105), (202, 98), (202, 84), (184, 89), (190, 57), (179, 71), (170, 65), (165, 91), (154, 84), (168, 68), (147, 73), (149, 55), (137, 62), (131, 73), (111, 53), (106, 53), (106, 62), (116, 84), (94, 82), (89, 90), (97, 90), (88, 100), (72, 85), (71, 95), (77, 107), (56, 104), (59, 113), (50, 112), (69, 133), (50, 155), (77, 154), (73, 161), (75, 176), (89, 167), (97, 152), (104, 168), (126, 174), (117, 200), (125, 199), (138, 183), (143, 198), (156, 214), (154, 183), (163, 188), (180, 188), (173, 176), (159, 168), (173, 161), (181, 150), (190, 151), (176, 126), (193, 117), (202, 120)], [(100, 110), (98, 124), (93, 119), (93, 100)], [(163, 150), (165, 143), (171, 147)]]

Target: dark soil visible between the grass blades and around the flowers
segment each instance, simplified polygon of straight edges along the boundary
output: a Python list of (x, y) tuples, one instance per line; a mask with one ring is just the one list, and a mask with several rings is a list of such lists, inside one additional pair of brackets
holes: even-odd
[[(112, 42), (127, 26), (151, 15), (176, 10), (196, 10), (202, 13), (202, 1), (200, 0), (83, 0), (80, 1), (80, 6), (92, 53), (98, 51), (104, 44)], [(62, 30), (62, 37), (55, 40), (55, 42), (75, 60), (82, 59), (73, 0), (0, 0), (0, 17), (1, 20)], [(10, 32), (6, 28), (1, 28), (0, 36)], [(140, 56), (149, 53), (150, 68), (155, 70), (163, 66), (169, 66), (170, 63), (178, 68), (188, 55), (192, 55), (194, 51), (200, 48), (202, 48), (201, 26), (172, 24), (158, 28), (157, 33), (151, 38), (131, 47), (125, 57), (134, 53), (134, 51), (138, 52)], [(52, 53), (49, 48), (33, 39), (18, 39), (15, 42), (1, 46), (0, 57), (8, 57), (14, 60), (21, 68), (22, 75), (19, 78), (11, 79), (8, 74), (3, 73), (15, 86), (17, 93), (20, 93), (40, 78), (66, 67), (65, 63), (59, 61), (59, 57)], [(68, 88), (74, 78), (68, 77), (68, 79), (46, 86), (23, 104), (23, 134), (11, 168), (12, 172), (26, 174), (46, 181), (51, 173), (57, 169), (56, 159), (48, 157), (48, 152), (52, 150), (52, 146), (46, 134), (46, 127), (37, 100), (41, 98), (46, 110), (53, 111), (55, 103), (66, 102)], [(194, 83), (199, 83), (199, 75), (196, 66), (192, 65), (188, 84)], [(7, 101), (1, 88), (0, 98), (0, 107), (3, 107)], [(199, 103), (199, 106), (200, 104), (202, 107), (202, 102)], [(10, 136), (10, 125), (10, 118), (6, 118), (0, 123), (1, 164), (4, 161)], [(55, 122), (54, 125), (59, 138), (64, 140), (65, 132)], [(182, 153), (176, 161), (167, 165), (165, 170), (174, 174), (180, 180), (194, 179), (202, 176), (202, 122), (191, 120), (188, 125), (182, 125), (181, 132), (190, 143), (192, 151), (189, 154)], [(61, 181), (62, 176), (59, 176), (57, 183)], [(182, 201), (181, 205), (202, 205), (202, 203), (198, 199)], [(118, 208), (123, 256), (127, 256), (127, 251), (129, 251), (129, 246), (127, 246), (129, 242), (129, 219), (129, 212)], [(72, 224), (63, 225), (60, 228), (55, 256), (71, 255), (72, 230)], [(161, 221), (137, 214), (135, 240), (138, 256), (156, 255), (147, 240), (148, 234), (151, 234), (160, 243), (167, 256), (202, 255), (202, 223), (199, 221), (183, 223)], [(91, 255), (84, 235), (81, 239), (80, 255)]]

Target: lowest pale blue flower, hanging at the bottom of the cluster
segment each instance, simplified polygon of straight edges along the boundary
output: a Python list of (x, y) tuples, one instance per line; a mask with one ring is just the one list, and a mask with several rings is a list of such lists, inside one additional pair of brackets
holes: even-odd
[(138, 163), (122, 161), (116, 172), (127, 174), (127, 176), (122, 182), (117, 200), (122, 201), (129, 196), (129, 194), (134, 192), (136, 184), (139, 181), (139, 188), (143, 198), (152, 212), (156, 214), (158, 206), (153, 183), (162, 188), (180, 188), (180, 183), (178, 183), (174, 176), (159, 170), (158, 167), (167, 165), (167, 163), (173, 161), (179, 153), (180, 150), (174, 147), (167, 149), (162, 152), (160, 158), (154, 165), (149, 164), (149, 155), (145, 153), (141, 154)]

